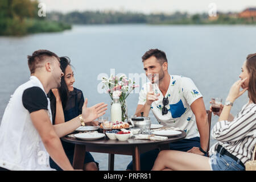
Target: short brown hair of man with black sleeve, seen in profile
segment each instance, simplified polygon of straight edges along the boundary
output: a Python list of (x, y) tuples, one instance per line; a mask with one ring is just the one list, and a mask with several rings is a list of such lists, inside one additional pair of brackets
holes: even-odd
[(59, 56), (45, 49), (40, 49), (38, 51), (33, 52), (32, 56), (27, 56), (28, 68), (30, 68), (30, 73), (31, 74), (35, 73), (36, 68), (42, 67), (42, 64), (40, 63), (42, 63), (44, 60), (52, 56), (56, 57), (57, 60), (60, 61)]

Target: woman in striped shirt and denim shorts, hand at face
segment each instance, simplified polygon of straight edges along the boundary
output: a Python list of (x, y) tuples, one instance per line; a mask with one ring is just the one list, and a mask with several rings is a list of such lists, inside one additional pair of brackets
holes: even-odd
[[(218, 142), (210, 148), (210, 158), (189, 152), (161, 151), (152, 170), (245, 170), (244, 164), (252, 160), (256, 144), (256, 53), (247, 56), (239, 77), (241, 80), (230, 88), (219, 122), (211, 131)], [(233, 117), (230, 114), (233, 102), (246, 90), (249, 102)]]

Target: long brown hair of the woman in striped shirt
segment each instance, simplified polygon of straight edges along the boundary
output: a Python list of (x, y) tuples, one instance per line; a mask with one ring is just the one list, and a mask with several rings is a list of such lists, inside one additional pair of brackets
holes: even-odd
[(249, 98), (256, 104), (256, 53), (247, 56), (246, 68), (250, 74), (248, 86)]

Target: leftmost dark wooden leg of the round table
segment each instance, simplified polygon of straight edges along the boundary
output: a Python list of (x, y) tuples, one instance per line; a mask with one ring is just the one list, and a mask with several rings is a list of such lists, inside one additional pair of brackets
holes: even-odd
[(84, 167), (85, 152), (85, 145), (75, 144), (75, 153), (73, 158), (74, 169), (82, 169)]

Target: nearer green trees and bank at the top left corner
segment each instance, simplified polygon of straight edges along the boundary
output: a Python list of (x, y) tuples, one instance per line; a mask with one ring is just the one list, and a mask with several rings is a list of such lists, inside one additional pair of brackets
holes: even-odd
[(71, 25), (38, 16), (38, 1), (1, 0), (0, 35), (26, 35), (71, 29)]

